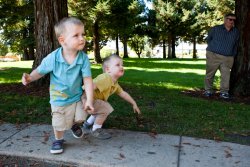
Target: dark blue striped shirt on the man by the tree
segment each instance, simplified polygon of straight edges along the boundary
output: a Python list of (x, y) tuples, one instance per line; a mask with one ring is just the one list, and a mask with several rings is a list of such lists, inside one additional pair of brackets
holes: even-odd
[(218, 25), (208, 33), (207, 50), (223, 55), (223, 56), (236, 56), (237, 46), (239, 40), (239, 31), (233, 27), (230, 31), (227, 31), (223, 25)]

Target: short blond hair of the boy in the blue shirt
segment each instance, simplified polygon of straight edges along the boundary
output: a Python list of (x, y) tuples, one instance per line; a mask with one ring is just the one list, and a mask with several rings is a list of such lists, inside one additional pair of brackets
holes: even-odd
[(63, 34), (68, 24), (84, 26), (81, 20), (75, 17), (65, 17), (62, 20), (60, 20), (58, 23), (56, 23), (56, 25), (54, 26), (55, 34), (57, 38)]

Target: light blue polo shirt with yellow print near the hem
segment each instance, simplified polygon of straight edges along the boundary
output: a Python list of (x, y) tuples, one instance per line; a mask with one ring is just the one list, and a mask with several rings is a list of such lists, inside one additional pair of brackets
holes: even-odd
[(80, 100), (84, 77), (91, 77), (88, 56), (79, 51), (72, 64), (68, 64), (62, 56), (62, 48), (58, 48), (37, 67), (38, 73), (50, 73), (50, 104), (66, 106)]

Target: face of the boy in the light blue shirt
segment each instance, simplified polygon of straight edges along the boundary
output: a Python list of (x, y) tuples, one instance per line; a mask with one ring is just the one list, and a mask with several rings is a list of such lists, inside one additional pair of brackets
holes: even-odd
[(59, 37), (59, 43), (67, 50), (82, 50), (85, 45), (84, 27), (68, 24), (65, 32)]

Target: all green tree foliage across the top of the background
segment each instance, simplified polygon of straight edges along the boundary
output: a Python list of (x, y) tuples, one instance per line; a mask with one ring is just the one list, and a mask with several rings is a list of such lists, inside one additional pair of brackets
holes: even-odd
[[(148, 36), (151, 48), (163, 39), (204, 42), (207, 30), (222, 24), (223, 15), (234, 12), (235, 0), (68, 0), (69, 15), (85, 23), (88, 51), (93, 50), (93, 25), (98, 22), (100, 49), (119, 36), (126, 42), (136, 35)], [(15, 12), (13, 12), (15, 11)], [(33, 54), (34, 5), (32, 0), (0, 1), (1, 51)], [(34, 55), (33, 55), (34, 56)]]

